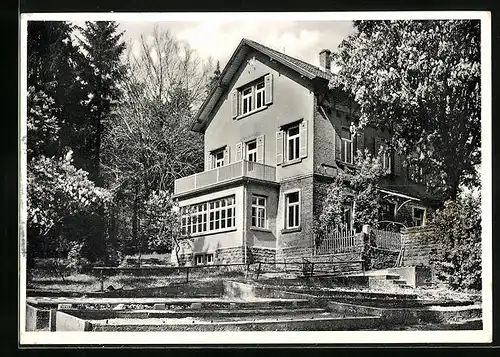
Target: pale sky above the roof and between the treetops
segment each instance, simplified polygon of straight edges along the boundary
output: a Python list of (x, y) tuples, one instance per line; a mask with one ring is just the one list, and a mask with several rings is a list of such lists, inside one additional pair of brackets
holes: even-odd
[[(141, 35), (151, 36), (155, 25), (169, 29), (178, 40), (186, 41), (202, 58), (220, 61), (224, 68), (242, 38), (259, 42), (292, 57), (319, 65), (322, 49), (335, 51), (353, 32), (351, 21), (290, 20), (196, 20), (196, 21), (118, 21), (124, 40), (138, 51)], [(134, 45), (135, 44), (135, 45)]]

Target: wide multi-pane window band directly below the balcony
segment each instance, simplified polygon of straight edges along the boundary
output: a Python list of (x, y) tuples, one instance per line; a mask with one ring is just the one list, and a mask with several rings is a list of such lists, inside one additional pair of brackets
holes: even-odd
[(210, 233), (235, 227), (234, 196), (181, 207), (181, 228), (185, 235)]

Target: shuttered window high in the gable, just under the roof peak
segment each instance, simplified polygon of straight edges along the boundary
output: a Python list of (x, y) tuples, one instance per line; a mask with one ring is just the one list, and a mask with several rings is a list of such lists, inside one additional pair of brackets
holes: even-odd
[(272, 75), (268, 74), (247, 85), (233, 90), (231, 112), (233, 118), (246, 116), (267, 108), (273, 101)]

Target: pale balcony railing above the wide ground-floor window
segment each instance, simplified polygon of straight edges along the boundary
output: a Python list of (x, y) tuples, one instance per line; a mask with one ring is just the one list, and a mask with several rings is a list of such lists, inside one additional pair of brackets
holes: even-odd
[(246, 160), (236, 161), (229, 165), (175, 180), (174, 195), (188, 193), (240, 178), (276, 182), (276, 167)]

